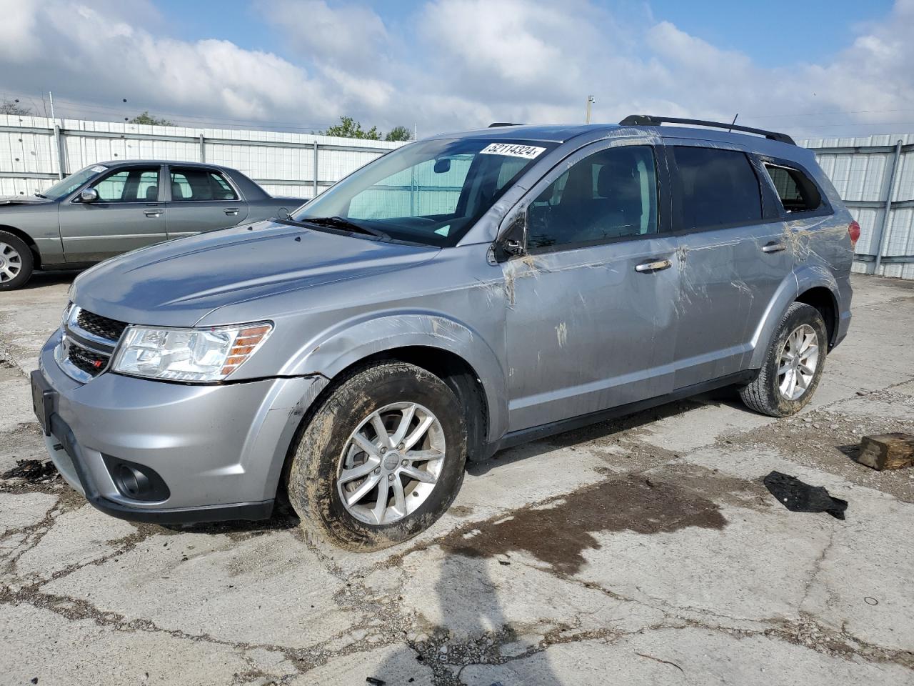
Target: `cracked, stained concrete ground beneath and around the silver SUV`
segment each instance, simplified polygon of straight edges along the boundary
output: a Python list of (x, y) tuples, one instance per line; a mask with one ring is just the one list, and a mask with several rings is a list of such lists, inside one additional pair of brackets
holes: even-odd
[[(68, 284), (0, 294), (0, 471), (43, 457), (25, 374)], [(0, 684), (914, 683), (914, 469), (850, 458), (914, 433), (914, 284), (855, 289), (800, 416), (722, 393), (505, 451), (385, 552), (0, 481)], [(772, 469), (847, 519), (783, 508)]]

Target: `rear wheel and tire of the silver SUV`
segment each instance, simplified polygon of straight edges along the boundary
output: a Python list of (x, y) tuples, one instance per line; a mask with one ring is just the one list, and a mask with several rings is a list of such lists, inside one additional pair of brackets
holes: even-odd
[(800, 412), (822, 379), (827, 349), (822, 315), (812, 305), (793, 303), (771, 339), (759, 376), (739, 396), (752, 410), (772, 417)]

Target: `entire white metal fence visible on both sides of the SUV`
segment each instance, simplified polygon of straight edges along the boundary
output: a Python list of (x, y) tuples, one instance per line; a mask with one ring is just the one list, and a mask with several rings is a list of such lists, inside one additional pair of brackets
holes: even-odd
[[(914, 279), (914, 134), (799, 143), (815, 151), (860, 223), (855, 271)], [(314, 134), (0, 115), (0, 195), (40, 192), (62, 175), (105, 160), (174, 159), (231, 166), (273, 195), (314, 198), (399, 145)]]

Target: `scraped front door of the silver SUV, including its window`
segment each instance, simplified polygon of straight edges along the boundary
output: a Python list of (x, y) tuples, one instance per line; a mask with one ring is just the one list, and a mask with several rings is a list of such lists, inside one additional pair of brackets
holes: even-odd
[(527, 195), (526, 254), (502, 264), (508, 430), (673, 390), (679, 263), (666, 165), (653, 145), (601, 142)]

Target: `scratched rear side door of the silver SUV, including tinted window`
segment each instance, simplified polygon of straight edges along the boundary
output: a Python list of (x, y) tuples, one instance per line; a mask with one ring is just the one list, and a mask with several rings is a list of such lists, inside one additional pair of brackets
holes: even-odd
[(739, 145), (668, 140), (681, 270), (675, 388), (749, 364), (760, 325), (791, 287), (792, 241), (764, 167)]

